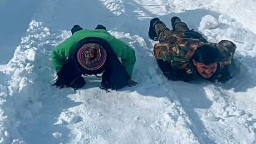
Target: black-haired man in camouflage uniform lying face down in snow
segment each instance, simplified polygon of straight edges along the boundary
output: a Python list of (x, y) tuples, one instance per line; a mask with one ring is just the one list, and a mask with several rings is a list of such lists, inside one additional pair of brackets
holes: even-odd
[(172, 30), (154, 18), (150, 21), (149, 37), (159, 41), (154, 56), (163, 74), (173, 81), (191, 81), (203, 77), (226, 82), (231, 78), (231, 65), (236, 45), (228, 40), (209, 43), (203, 36), (189, 30), (186, 23), (172, 17)]

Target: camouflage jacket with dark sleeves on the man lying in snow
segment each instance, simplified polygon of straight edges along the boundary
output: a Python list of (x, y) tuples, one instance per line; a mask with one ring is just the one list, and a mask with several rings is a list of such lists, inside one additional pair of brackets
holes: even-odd
[[(201, 34), (189, 32), (171, 32), (168, 42), (157, 43), (154, 46), (154, 56), (164, 75), (170, 80), (191, 81), (200, 77), (192, 64), (192, 57), (200, 45), (208, 43)], [(231, 42), (232, 43), (232, 42)], [(230, 79), (228, 65), (231, 64), (236, 47), (230, 46), (230, 41), (208, 43), (218, 48), (221, 61), (215, 74), (209, 79), (220, 82)]]

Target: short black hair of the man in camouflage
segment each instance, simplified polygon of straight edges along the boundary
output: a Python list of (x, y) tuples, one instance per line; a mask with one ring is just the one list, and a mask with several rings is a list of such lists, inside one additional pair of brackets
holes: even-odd
[(216, 45), (202, 44), (195, 51), (193, 59), (206, 65), (217, 63), (220, 61), (220, 52)]

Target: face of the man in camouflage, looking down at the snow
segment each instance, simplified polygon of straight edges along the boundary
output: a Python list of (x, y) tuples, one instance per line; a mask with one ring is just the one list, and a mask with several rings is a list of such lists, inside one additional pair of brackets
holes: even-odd
[(198, 73), (204, 78), (210, 78), (216, 72), (218, 67), (217, 63), (206, 65), (195, 60), (193, 60), (193, 64), (196, 67)]

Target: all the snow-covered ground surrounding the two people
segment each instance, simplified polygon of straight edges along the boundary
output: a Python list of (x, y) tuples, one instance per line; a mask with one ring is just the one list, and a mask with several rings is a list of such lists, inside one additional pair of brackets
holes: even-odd
[[(255, 7), (254, 0), (0, 1), (0, 143), (255, 144)], [(174, 15), (211, 42), (235, 42), (232, 80), (162, 75), (147, 30), (151, 18), (170, 26)], [(76, 92), (52, 87), (51, 52), (74, 24), (103, 24), (133, 47), (139, 84), (106, 93), (86, 76)]]

